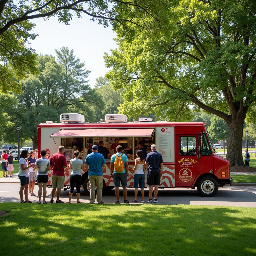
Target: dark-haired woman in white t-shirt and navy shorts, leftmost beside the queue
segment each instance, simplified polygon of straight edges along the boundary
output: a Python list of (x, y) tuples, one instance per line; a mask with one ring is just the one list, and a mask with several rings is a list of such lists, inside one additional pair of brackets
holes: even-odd
[[(20, 190), (19, 190), (19, 196), (20, 196), (20, 202), (21, 203), (32, 203), (28, 199), (28, 184), (29, 184), (29, 177), (28, 177), (28, 169), (34, 164), (28, 165), (25, 158), (28, 157), (28, 150), (24, 149), (20, 153), (20, 159), (19, 159), (19, 174), (18, 177), (20, 179)], [(23, 191), (25, 195), (25, 201), (23, 200)]]

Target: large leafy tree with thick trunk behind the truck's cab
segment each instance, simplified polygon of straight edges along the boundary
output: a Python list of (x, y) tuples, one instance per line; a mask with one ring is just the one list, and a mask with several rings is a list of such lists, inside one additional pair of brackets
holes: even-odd
[(158, 35), (131, 41), (118, 30), (119, 49), (105, 56), (113, 86), (127, 89), (122, 111), (190, 120), (192, 105), (217, 115), (229, 127), (227, 159), (243, 166), (243, 124), (255, 105), (256, 2), (184, 0), (166, 15), (170, 25)]

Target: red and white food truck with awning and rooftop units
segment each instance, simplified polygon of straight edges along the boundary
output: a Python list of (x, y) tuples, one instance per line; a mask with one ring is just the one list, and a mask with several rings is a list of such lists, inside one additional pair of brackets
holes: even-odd
[[(163, 156), (164, 168), (159, 188), (191, 188), (202, 196), (216, 195), (219, 187), (232, 185), (230, 163), (217, 156), (212, 146), (206, 125), (203, 122), (153, 122), (150, 118), (127, 122), (123, 114), (106, 115), (105, 122), (85, 123), (80, 114), (61, 114), (60, 123), (47, 122), (38, 125), (38, 152), (47, 151), (47, 158), (58, 152), (60, 145), (65, 147), (68, 166), (65, 169), (65, 189), (70, 186), (69, 161), (74, 158), (73, 152), (80, 151), (83, 161), (91, 153), (91, 146), (103, 141), (110, 154), (115, 152), (111, 145), (115, 139), (123, 147), (123, 154), (128, 157), (129, 174), (127, 187), (133, 187), (131, 176), (138, 142), (143, 141), (147, 153), (151, 145), (157, 146), (157, 152)], [(106, 159), (103, 170), (105, 189), (114, 188), (114, 180), (110, 177), (110, 159)], [(145, 187), (147, 170), (145, 173)], [(51, 185), (51, 171), (49, 182)], [(90, 194), (88, 172), (82, 170), (82, 186), (86, 194)]]

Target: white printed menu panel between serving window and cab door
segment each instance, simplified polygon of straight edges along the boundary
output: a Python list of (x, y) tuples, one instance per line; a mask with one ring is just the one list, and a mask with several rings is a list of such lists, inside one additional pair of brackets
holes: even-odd
[(165, 163), (174, 163), (174, 127), (157, 127), (157, 151)]

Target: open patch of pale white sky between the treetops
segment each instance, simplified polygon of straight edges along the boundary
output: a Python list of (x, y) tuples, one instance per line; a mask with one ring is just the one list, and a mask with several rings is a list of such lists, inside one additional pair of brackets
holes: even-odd
[(85, 62), (86, 69), (91, 70), (88, 78), (91, 87), (94, 87), (96, 78), (104, 77), (108, 71), (103, 60), (104, 52), (110, 53), (111, 49), (117, 48), (111, 27), (104, 28), (97, 22), (93, 23), (86, 14), (79, 19), (73, 16), (69, 26), (60, 24), (56, 18), (31, 21), (36, 24), (34, 32), (39, 36), (31, 41), (30, 47), (38, 54), (55, 56), (55, 49), (69, 47), (81, 62)]

